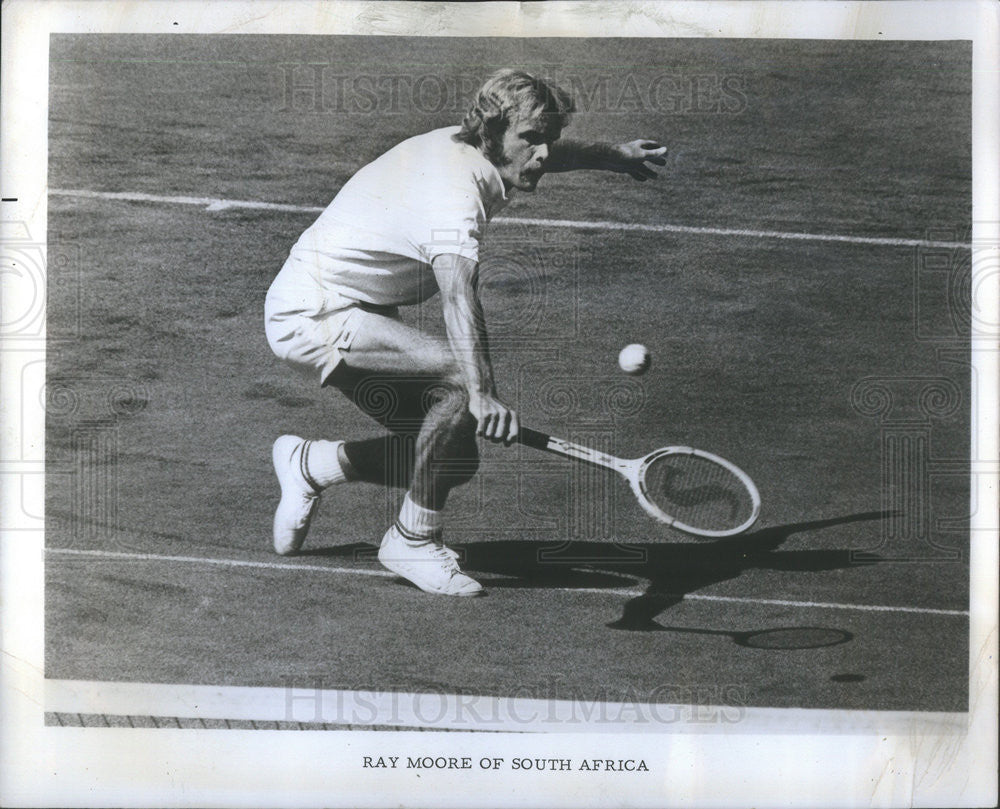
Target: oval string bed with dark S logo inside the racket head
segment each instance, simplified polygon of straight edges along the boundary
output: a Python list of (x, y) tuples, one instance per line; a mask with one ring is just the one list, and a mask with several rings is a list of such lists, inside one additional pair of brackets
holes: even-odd
[(692, 528), (726, 531), (750, 519), (754, 500), (725, 466), (693, 454), (654, 458), (643, 476), (646, 497), (664, 514)]

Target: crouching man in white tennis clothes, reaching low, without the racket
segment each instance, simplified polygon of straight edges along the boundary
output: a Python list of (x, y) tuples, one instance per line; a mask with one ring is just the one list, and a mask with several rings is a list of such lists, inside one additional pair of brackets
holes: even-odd
[[(486, 224), (546, 172), (656, 176), (666, 149), (559, 140), (573, 112), (560, 87), (518, 70), (491, 76), (461, 126), (405, 140), (357, 172), (295, 243), (265, 305), (278, 357), (341, 391), (387, 428), (363, 440), (283, 435), (274, 549), (302, 547), (326, 489), (349, 481), (407, 488), (379, 561), (421, 590), (482, 592), (443, 542), (448, 493), (478, 466), (477, 436), (510, 444), (517, 413), (497, 393), (478, 256)], [(447, 339), (404, 324), (398, 307), (440, 293)]]

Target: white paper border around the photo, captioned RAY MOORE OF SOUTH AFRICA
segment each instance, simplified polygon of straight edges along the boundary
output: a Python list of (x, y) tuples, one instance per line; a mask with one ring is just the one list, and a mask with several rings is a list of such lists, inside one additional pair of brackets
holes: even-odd
[[(969, 39), (973, 46), (974, 250), (1000, 245), (998, 12), (991, 2), (316, 3), (28, 2), (3, 6), (2, 189), (7, 223), (46, 241), (50, 33), (380, 34), (400, 36)], [(611, 24), (611, 21), (614, 24)], [(20, 232), (20, 231), (19, 231)], [(976, 263), (974, 262), (974, 266)], [(973, 279), (979, 322), (1000, 322), (992, 263)], [(7, 288), (5, 288), (5, 293)], [(18, 290), (15, 290), (18, 292)], [(23, 290), (21, 291), (23, 292)], [(19, 292), (18, 294), (21, 294)], [(31, 310), (9, 295), (5, 314)], [(21, 307), (20, 309), (18, 307)], [(990, 307), (993, 307), (990, 309)], [(2, 322), (8, 322), (6, 318)], [(21, 380), (45, 359), (44, 334), (0, 346), (5, 428), (0, 449), (3, 664), (0, 802), (8, 806), (538, 806), (788, 804), (980, 806), (996, 802), (997, 335), (973, 318), (978, 396), (973, 413), (970, 703), (956, 732), (940, 714), (895, 717), (872, 732), (871, 712), (836, 731), (831, 714), (774, 709), (739, 732), (498, 734), (365, 731), (58, 728), (45, 726), (43, 677), (44, 412), (20, 412)], [(41, 375), (44, 380), (44, 373)], [(11, 429), (17, 417), (21, 429)], [(16, 425), (15, 425), (16, 426)], [(106, 696), (107, 686), (80, 684)], [(215, 689), (219, 698), (238, 689)], [(85, 695), (86, 696), (86, 695)], [(235, 697), (234, 697), (235, 698)], [(51, 705), (51, 702), (48, 703)], [(770, 710), (770, 709), (769, 709)], [(884, 715), (875, 714), (876, 718)], [(947, 715), (952, 716), (952, 715)], [(957, 715), (959, 717), (963, 715)], [(833, 717), (836, 721), (836, 717)], [(962, 720), (959, 720), (962, 721)], [(865, 724), (865, 723), (869, 724)], [(794, 730), (789, 730), (792, 727)], [(809, 733), (812, 727), (818, 732)], [(843, 727), (840, 725), (839, 727)], [(864, 728), (868, 728), (867, 731)], [(361, 768), (363, 755), (642, 759), (646, 773), (423, 772)]]

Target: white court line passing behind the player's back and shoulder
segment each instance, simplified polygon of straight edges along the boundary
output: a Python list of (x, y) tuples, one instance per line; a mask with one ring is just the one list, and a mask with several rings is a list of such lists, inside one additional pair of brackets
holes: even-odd
[[(292, 213), (320, 213), (323, 208), (314, 205), (290, 205), (280, 202), (258, 202), (244, 199), (219, 199), (216, 197), (159, 196), (129, 191), (87, 191), (80, 189), (50, 188), (49, 193), (60, 197), (81, 197), (84, 199), (110, 199), (125, 202), (158, 202), (172, 205), (198, 205), (209, 211), (227, 208), (251, 208), (265, 211), (288, 211)], [(640, 222), (578, 221), (573, 219), (531, 219), (499, 216), (493, 220), (498, 225), (539, 225), (549, 228), (572, 228), (574, 230), (620, 230), (642, 233), (692, 233), (707, 236), (737, 236), (751, 239), (792, 239), (812, 242), (846, 242), (848, 244), (870, 244), (881, 247), (943, 247), (971, 249), (964, 242), (935, 241), (932, 239), (892, 239), (876, 236), (843, 236), (831, 233), (792, 233), (781, 230), (748, 230), (741, 228), (708, 228), (691, 225), (671, 225), (668, 223), (647, 225)]]

